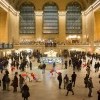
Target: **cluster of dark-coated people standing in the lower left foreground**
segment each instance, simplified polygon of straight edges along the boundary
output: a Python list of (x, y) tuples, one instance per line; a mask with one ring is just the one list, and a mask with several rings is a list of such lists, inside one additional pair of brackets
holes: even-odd
[(9, 71), (6, 69), (2, 77), (2, 80), (0, 81), (3, 91), (10, 91), (9, 87), (12, 86), (13, 92), (17, 92), (17, 88), (19, 86), (20, 92), (22, 93), (22, 97), (24, 98), (24, 100), (28, 100), (28, 97), (30, 96), (29, 87), (25, 82), (25, 79), (21, 76), (21, 74), (18, 78), (18, 72), (15, 72), (13, 80), (11, 80), (9, 77)]

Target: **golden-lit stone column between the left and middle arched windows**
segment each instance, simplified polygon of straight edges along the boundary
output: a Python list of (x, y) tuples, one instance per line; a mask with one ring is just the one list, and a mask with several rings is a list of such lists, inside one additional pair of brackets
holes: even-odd
[(36, 15), (36, 40), (38, 39), (42, 39), (42, 14), (43, 14), (43, 11), (36, 11), (35, 12), (35, 15)]

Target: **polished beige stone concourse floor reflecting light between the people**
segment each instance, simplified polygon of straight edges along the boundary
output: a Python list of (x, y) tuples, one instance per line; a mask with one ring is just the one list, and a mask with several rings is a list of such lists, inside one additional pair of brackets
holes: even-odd
[[(94, 68), (91, 67), (91, 74), (90, 76), (93, 78), (93, 97), (88, 97), (88, 88), (84, 87), (84, 80), (86, 74), (86, 69), (82, 68), (81, 71), (76, 71), (77, 80), (76, 86), (73, 88), (75, 95), (69, 92), (68, 96), (66, 95), (66, 90), (63, 88), (58, 89), (58, 81), (57, 81), (57, 74), (54, 72), (53, 75), (50, 74), (50, 68), (52, 65), (47, 65), (47, 70), (45, 74), (42, 74), (42, 71), (37, 69), (38, 64), (34, 63), (34, 68), (30, 71), (28, 68), (26, 69), (27, 72), (35, 73), (39, 79), (39, 82), (32, 81), (29, 82), (28, 79), (27, 84), (30, 88), (30, 97), (29, 100), (97, 100), (97, 90), (100, 89), (99, 78), (97, 72), (95, 73)], [(62, 65), (57, 65), (56, 67), (57, 72), (62, 72), (64, 76), (66, 73), (68, 77), (71, 78), (71, 74), (73, 73), (72, 67), (68, 67), (68, 69), (64, 69)], [(20, 72), (19, 73), (23, 73)], [(25, 73), (25, 72), (24, 72)], [(2, 77), (2, 75), (0, 75)], [(13, 73), (10, 73), (10, 78), (13, 78)], [(21, 93), (19, 92), (13, 93), (13, 88), (10, 86), (10, 91), (2, 91), (2, 87), (0, 87), (0, 100), (23, 100)]]

